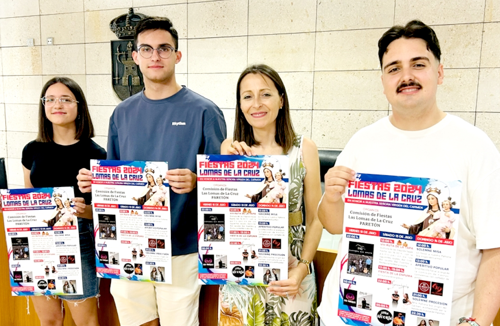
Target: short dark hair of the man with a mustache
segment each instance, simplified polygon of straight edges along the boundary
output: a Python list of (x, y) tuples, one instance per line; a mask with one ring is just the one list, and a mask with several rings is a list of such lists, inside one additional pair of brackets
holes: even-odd
[(441, 49), (436, 33), (420, 20), (411, 20), (405, 26), (395, 25), (383, 33), (378, 40), (378, 59), (382, 67), (382, 56), (387, 52), (387, 46), (398, 38), (421, 38), (427, 44), (427, 49), (434, 54), (437, 61), (441, 60)]

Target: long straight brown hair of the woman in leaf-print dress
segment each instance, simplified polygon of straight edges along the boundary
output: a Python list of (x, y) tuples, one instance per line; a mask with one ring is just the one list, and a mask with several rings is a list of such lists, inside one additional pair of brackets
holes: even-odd
[(279, 74), (276, 70), (266, 64), (250, 65), (239, 75), (238, 82), (236, 84), (236, 115), (234, 119), (233, 140), (244, 141), (248, 146), (259, 144), (253, 136), (253, 128), (248, 121), (246, 121), (239, 103), (241, 99), (239, 95), (239, 85), (241, 84), (243, 77), (249, 73), (258, 73), (269, 77), (278, 90), (279, 95), (283, 98), (283, 106), (279, 109), (278, 115), (276, 116), (276, 135), (274, 136), (274, 140), (281, 146), (281, 148), (283, 148), (283, 153), (286, 154), (292, 147), (293, 141), (295, 140), (295, 131), (293, 130), (293, 125), (291, 123), (288, 96), (286, 95), (286, 89), (284, 88), (283, 81), (279, 77)]

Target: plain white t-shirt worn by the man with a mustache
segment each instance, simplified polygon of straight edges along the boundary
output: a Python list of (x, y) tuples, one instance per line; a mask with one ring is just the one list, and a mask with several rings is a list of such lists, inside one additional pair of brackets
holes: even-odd
[[(440, 155), (442, 159), (433, 159), (442, 152), (446, 152)], [(488, 136), (450, 114), (418, 131), (397, 129), (384, 117), (356, 132), (335, 165), (360, 173), (462, 181), (450, 324), (470, 316), (479, 249), (500, 247), (500, 205), (496, 204), (500, 197), (500, 153)], [(339, 276), (335, 259), (318, 307), (326, 326), (344, 324), (337, 316)]]

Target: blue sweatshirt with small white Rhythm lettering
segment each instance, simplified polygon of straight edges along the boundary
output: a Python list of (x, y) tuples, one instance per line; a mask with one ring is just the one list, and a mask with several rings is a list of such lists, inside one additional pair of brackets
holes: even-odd
[[(196, 154), (218, 154), (226, 136), (222, 111), (182, 87), (152, 100), (141, 91), (119, 103), (109, 118), (107, 159), (168, 161), (168, 168), (196, 172)], [(172, 255), (197, 251), (196, 189), (170, 190)]]

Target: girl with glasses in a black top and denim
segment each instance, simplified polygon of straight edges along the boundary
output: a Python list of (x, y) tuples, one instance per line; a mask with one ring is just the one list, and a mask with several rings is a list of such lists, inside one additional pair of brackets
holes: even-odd
[[(54, 77), (45, 83), (41, 96), (38, 136), (22, 150), (24, 186), (73, 186), (75, 198), (72, 201), (80, 232), (83, 294), (55, 298), (32, 296), (31, 300), (41, 326), (62, 326), (61, 299), (67, 301), (76, 325), (98, 326), (99, 284), (95, 274), (91, 194), (79, 191), (76, 175), (80, 168), (90, 167), (90, 159), (105, 159), (106, 152), (90, 139), (94, 136), (90, 113), (83, 91), (74, 80)], [(70, 293), (69, 286), (67, 289)]]

